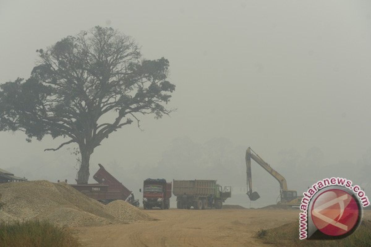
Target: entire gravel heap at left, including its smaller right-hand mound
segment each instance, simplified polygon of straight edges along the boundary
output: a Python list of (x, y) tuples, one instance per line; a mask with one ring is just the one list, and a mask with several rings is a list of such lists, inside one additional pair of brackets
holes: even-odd
[[(150, 217), (124, 202), (104, 205), (66, 183), (28, 181), (0, 184), (0, 221), (50, 220), (58, 226), (102, 226)], [(113, 205), (113, 206), (112, 206)]]

